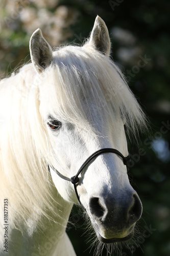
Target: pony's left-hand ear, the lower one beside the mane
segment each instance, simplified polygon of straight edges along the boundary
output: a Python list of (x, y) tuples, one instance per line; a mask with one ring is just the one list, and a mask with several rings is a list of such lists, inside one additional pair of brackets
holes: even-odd
[(30, 55), (33, 66), (37, 73), (47, 68), (52, 60), (52, 48), (42, 36), (40, 29), (37, 29), (30, 39)]

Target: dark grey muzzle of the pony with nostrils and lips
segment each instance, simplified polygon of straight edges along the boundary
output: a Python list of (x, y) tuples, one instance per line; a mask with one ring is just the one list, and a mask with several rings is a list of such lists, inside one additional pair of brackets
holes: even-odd
[(142, 214), (142, 204), (135, 190), (116, 202), (103, 196), (89, 200), (91, 223), (96, 236), (103, 243), (115, 243), (133, 237), (134, 227)]

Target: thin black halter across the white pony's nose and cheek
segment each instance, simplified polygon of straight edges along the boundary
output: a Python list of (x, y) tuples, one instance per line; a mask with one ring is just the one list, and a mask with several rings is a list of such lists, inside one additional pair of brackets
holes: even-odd
[[(128, 163), (130, 161), (130, 155), (128, 155), (127, 157), (124, 157), (122, 155), (122, 153), (120, 153), (118, 150), (115, 150), (114, 148), (102, 148), (102, 150), (98, 150), (96, 152), (94, 152), (91, 156), (89, 156), (86, 161), (82, 164), (82, 166), (80, 167), (80, 169), (78, 170), (77, 174), (73, 177), (71, 177), (70, 179), (65, 177), (64, 175), (60, 174), (58, 172), (58, 170), (56, 170), (55, 168), (51, 167), (54, 172), (56, 174), (58, 174), (58, 176), (64, 180), (67, 180), (67, 181), (71, 181), (72, 184), (74, 184), (74, 188), (75, 188), (75, 193), (76, 193), (76, 196), (79, 200), (79, 203), (81, 204), (80, 202), (80, 198), (79, 198), (79, 195), (78, 195), (78, 191), (77, 191), (77, 186), (76, 184), (79, 182), (79, 174), (81, 174), (81, 172), (83, 171), (83, 169), (86, 167), (87, 164), (89, 164), (91, 162), (91, 160), (95, 157), (98, 157), (99, 155), (101, 154), (104, 154), (104, 153), (114, 153), (116, 155), (118, 155), (119, 157), (121, 157), (123, 159), (123, 162), (125, 165), (127, 165), (127, 168), (128, 168)], [(48, 170), (50, 172), (50, 166), (48, 165)]]

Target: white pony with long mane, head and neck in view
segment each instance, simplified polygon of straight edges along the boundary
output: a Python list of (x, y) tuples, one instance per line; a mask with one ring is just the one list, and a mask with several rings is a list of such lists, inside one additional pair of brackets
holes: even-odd
[(82, 47), (54, 51), (37, 29), (30, 53), (0, 83), (0, 255), (76, 255), (65, 230), (79, 201), (102, 243), (131, 239), (142, 205), (124, 125), (135, 136), (145, 118), (109, 57), (104, 21)]

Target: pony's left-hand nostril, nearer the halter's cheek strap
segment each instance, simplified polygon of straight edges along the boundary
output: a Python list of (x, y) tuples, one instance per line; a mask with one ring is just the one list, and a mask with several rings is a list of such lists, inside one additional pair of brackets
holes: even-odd
[(105, 208), (101, 205), (100, 199), (98, 197), (93, 197), (89, 202), (90, 212), (95, 217), (102, 217), (105, 212)]

